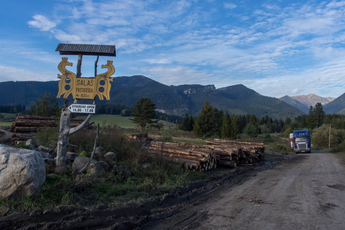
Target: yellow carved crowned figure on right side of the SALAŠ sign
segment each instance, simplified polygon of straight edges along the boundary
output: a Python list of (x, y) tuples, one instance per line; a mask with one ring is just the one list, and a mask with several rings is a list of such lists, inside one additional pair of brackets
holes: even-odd
[[(108, 71), (105, 72), (105, 73), (102, 73), (102, 74), (98, 74), (96, 76), (96, 79), (95, 79), (95, 85), (96, 85), (96, 88), (95, 88), (95, 91), (94, 91), (94, 95), (98, 95), (99, 99), (100, 100), (103, 100), (103, 96), (106, 97), (106, 100), (110, 100), (109, 98), (109, 93), (110, 93), (110, 82), (112, 82), (114, 80), (114, 77), (112, 77), (110, 79), (110, 76), (113, 75), (115, 73), (115, 68), (114, 68), (114, 65), (112, 65), (112, 61), (107, 61), (107, 64), (106, 65), (102, 65), (102, 69), (103, 68), (107, 68)], [(101, 81), (105, 81), (105, 84), (104, 85), (101, 85), (100, 82)], [(99, 88), (100, 87), (103, 87), (104, 88), (104, 91), (103, 92), (99, 92)]]

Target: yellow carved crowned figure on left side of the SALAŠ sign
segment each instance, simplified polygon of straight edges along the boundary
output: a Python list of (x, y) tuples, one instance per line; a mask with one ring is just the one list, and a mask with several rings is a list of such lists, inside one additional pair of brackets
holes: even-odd
[[(76, 74), (72, 73), (71, 71), (66, 70), (66, 65), (73, 66), (72, 62), (68, 62), (68, 57), (62, 57), (62, 61), (58, 65), (59, 71), (62, 73), (62, 75), (58, 74), (59, 80), (59, 93), (57, 98), (60, 98), (62, 94), (63, 98), (67, 98), (70, 94), (73, 95), (73, 98), (75, 98), (75, 86), (76, 86)], [(103, 67), (102, 67), (103, 68)], [(67, 83), (66, 79), (70, 79), (70, 82)], [(69, 85), (70, 89), (65, 90), (65, 86)]]

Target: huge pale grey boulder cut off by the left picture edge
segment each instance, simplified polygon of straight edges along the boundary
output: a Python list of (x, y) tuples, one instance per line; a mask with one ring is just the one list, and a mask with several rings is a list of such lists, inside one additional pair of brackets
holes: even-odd
[(38, 151), (0, 147), (1, 197), (36, 197), (45, 180), (46, 167)]

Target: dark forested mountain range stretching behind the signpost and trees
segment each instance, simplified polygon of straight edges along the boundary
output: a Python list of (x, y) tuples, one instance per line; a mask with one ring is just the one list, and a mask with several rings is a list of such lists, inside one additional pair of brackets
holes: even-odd
[[(0, 82), (0, 105), (22, 104), (29, 107), (39, 95), (48, 91), (58, 93), (58, 81)], [(230, 114), (266, 114), (274, 119), (295, 117), (304, 113), (298, 108), (279, 100), (263, 96), (244, 85), (232, 85), (216, 89), (214, 85), (164, 85), (142, 75), (114, 77), (111, 83), (110, 100), (98, 100), (96, 104), (120, 104), (133, 107), (141, 97), (151, 98), (160, 112), (183, 116), (197, 115), (205, 100), (210, 105)], [(72, 101), (72, 96), (68, 98)], [(58, 98), (63, 105), (64, 98)], [(70, 102), (69, 102), (70, 103)], [(83, 100), (81, 103), (90, 103)]]

